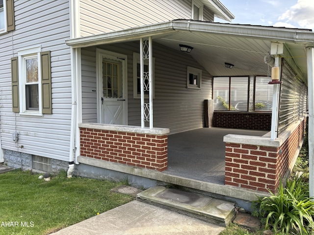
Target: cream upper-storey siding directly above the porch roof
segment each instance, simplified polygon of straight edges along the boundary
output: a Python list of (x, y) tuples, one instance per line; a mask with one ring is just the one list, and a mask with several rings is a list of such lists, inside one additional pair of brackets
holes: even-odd
[(80, 35), (191, 19), (191, 0), (80, 0)]

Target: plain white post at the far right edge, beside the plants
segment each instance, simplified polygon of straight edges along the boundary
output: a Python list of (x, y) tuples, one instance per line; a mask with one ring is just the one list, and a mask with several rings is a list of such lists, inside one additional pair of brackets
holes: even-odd
[(309, 184), (310, 197), (314, 197), (314, 47), (307, 47), (308, 101), (309, 101)]

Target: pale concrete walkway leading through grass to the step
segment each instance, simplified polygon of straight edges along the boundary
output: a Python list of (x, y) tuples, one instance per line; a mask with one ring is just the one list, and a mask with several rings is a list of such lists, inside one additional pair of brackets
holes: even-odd
[(219, 235), (225, 228), (132, 201), (52, 235)]

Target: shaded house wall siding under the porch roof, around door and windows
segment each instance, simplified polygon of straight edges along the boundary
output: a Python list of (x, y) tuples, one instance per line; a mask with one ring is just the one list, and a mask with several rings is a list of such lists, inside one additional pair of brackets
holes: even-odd
[[(133, 52), (139, 42), (102, 47), (128, 56), (128, 123), (140, 126), (140, 100), (133, 98)], [(202, 69), (187, 53), (163, 47), (153, 41), (155, 58), (154, 127), (170, 128), (171, 133), (204, 126), (204, 99), (211, 97), (212, 77), (202, 70), (202, 89), (186, 88), (186, 68)], [(95, 48), (82, 49), (83, 122), (96, 122)], [(94, 116), (93, 116), (94, 112)], [(148, 125), (148, 123), (146, 123)]]

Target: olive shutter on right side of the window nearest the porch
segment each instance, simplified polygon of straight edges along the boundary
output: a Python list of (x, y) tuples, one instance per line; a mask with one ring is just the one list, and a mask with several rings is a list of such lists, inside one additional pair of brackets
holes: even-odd
[(40, 53), (42, 113), (52, 114), (50, 51)]

